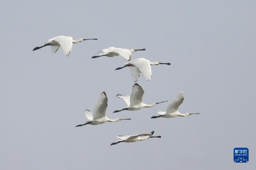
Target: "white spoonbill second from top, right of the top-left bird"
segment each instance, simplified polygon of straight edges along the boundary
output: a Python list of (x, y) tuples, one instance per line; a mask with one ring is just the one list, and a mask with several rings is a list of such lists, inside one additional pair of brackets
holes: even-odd
[(145, 48), (143, 49), (124, 49), (124, 48), (115, 48), (115, 47), (109, 47), (105, 48), (97, 53), (100, 53), (97, 56), (93, 56), (92, 58), (97, 58), (101, 56), (107, 56), (107, 57), (114, 57), (120, 55), (123, 57), (126, 61), (130, 61), (132, 58), (132, 52), (134, 51), (144, 51), (146, 50)]

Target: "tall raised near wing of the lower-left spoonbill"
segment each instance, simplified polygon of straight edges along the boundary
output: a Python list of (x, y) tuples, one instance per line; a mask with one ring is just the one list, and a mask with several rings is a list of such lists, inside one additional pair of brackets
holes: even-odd
[(108, 98), (105, 92), (100, 94), (97, 104), (93, 111), (93, 119), (104, 117), (106, 115), (106, 109), (108, 107)]

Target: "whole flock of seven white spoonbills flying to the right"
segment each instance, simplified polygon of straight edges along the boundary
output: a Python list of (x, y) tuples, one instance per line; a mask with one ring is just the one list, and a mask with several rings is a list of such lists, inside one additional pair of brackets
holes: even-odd
[[(45, 46), (51, 46), (52, 54), (56, 53), (57, 50), (61, 47), (64, 55), (69, 56), (72, 50), (72, 46), (74, 43), (82, 42), (85, 40), (98, 40), (98, 39), (83, 39), (80, 38), (78, 40), (73, 40), (72, 37), (67, 37), (67, 36), (57, 36), (52, 39), (49, 39), (47, 43), (43, 44), (43, 46), (36, 47), (33, 49), (33, 51), (43, 48)], [(140, 73), (143, 74), (144, 78), (149, 81), (152, 76), (151, 72), (151, 65), (159, 65), (159, 64), (167, 64), (170, 65), (170, 63), (159, 63), (159, 62), (150, 62), (149, 60), (145, 58), (138, 58), (135, 60), (131, 60), (132, 53), (135, 51), (144, 51), (145, 48), (143, 49), (124, 49), (124, 48), (115, 48), (115, 47), (109, 47), (105, 48), (101, 51), (99, 51), (99, 55), (93, 56), (92, 58), (98, 58), (101, 56), (107, 56), (107, 57), (114, 57), (114, 56), (121, 56), (123, 57), (128, 63), (123, 64), (123, 67), (119, 67), (116, 70), (120, 70), (125, 67), (129, 67), (131, 70), (132, 74), (132, 79), (134, 82), (138, 81), (138, 77), (140, 76)], [(142, 102), (144, 90), (143, 88), (135, 83), (132, 87), (132, 94), (131, 95), (121, 95), (117, 94), (116, 97), (121, 98), (125, 101), (127, 104), (127, 107), (121, 109), (121, 110), (116, 110), (113, 113), (117, 113), (123, 110), (140, 110), (144, 107), (154, 107), (159, 103), (167, 102), (167, 101), (162, 101), (162, 102), (154, 102), (151, 104), (145, 104)], [(185, 113), (181, 114), (178, 112), (178, 107), (181, 105), (181, 103), (184, 100), (184, 92), (179, 92), (177, 97), (173, 99), (173, 101), (169, 104), (169, 106), (166, 109), (166, 112), (162, 112), (159, 110), (157, 112), (159, 115), (157, 116), (152, 116), (151, 118), (159, 118), (159, 117), (165, 117), (165, 118), (173, 118), (176, 116), (189, 116), (193, 115), (191, 113)], [(97, 104), (94, 108), (93, 113), (90, 112), (88, 109), (84, 111), (85, 116), (89, 121), (87, 121), (84, 124), (77, 125), (76, 127), (79, 126), (84, 126), (87, 124), (90, 125), (98, 125), (102, 124), (105, 122), (119, 122), (121, 120), (131, 120), (131, 119), (120, 119), (120, 118), (115, 118), (115, 119), (109, 119), (106, 116), (106, 109), (108, 107), (108, 98), (105, 92), (102, 92), (98, 98)], [(199, 113), (194, 113), (194, 114), (199, 114)], [(158, 137), (161, 138), (161, 136), (152, 136), (154, 134), (154, 131), (149, 132), (149, 133), (143, 133), (143, 134), (138, 134), (138, 135), (132, 135), (132, 136), (118, 136), (117, 138), (119, 139), (118, 142), (114, 142), (111, 145), (118, 144), (120, 142), (136, 142), (140, 140), (145, 140), (148, 138), (153, 138), (153, 137)], [(143, 136), (143, 137), (142, 137)]]

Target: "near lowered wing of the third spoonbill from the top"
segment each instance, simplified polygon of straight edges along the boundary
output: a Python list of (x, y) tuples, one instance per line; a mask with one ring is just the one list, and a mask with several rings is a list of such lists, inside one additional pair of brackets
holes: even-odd
[(130, 61), (129, 64), (134, 65), (143, 74), (144, 78), (149, 81), (152, 76), (150, 62), (145, 58), (138, 58)]

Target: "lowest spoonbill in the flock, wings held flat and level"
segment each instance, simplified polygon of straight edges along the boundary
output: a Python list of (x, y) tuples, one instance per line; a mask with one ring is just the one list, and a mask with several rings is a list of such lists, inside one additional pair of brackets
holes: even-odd
[[(142, 134), (139, 134), (139, 135), (132, 135), (132, 136), (122, 136), (122, 135), (120, 135), (120, 136), (117, 137), (120, 140), (118, 140), (118, 142), (114, 142), (114, 143), (110, 144), (110, 146), (113, 145), (113, 144), (118, 144), (120, 142), (129, 143), (129, 142), (137, 142), (137, 141), (140, 141), (140, 140), (145, 140), (145, 139), (148, 139), (148, 138), (153, 138), (153, 136), (151, 136), (153, 134), (154, 134), (154, 131), (149, 132), (149, 133), (142, 133)], [(141, 137), (141, 136), (145, 136), (145, 137)], [(156, 136), (156, 137), (161, 138), (161, 136)]]

